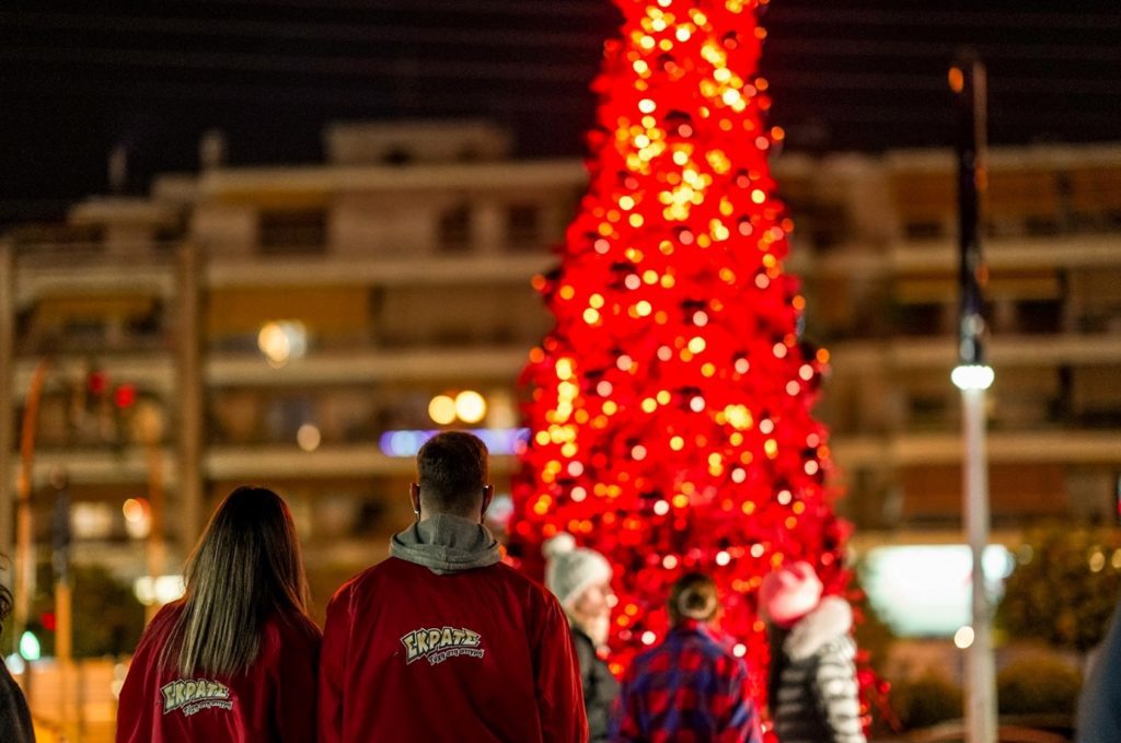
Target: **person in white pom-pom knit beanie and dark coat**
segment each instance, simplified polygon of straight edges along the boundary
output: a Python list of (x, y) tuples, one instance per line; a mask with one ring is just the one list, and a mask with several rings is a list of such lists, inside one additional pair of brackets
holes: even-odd
[(572, 625), (573, 644), (584, 684), (590, 741), (608, 740), (611, 707), (619, 681), (600, 659), (611, 629), (611, 563), (594, 549), (576, 547), (572, 535), (559, 533), (545, 542), (545, 585), (560, 601)]

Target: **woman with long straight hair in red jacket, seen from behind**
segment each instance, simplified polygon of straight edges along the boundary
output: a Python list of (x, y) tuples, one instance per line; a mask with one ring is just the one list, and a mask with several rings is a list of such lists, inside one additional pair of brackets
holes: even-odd
[(291, 513), (238, 487), (187, 560), (121, 689), (118, 743), (314, 741), (319, 629)]

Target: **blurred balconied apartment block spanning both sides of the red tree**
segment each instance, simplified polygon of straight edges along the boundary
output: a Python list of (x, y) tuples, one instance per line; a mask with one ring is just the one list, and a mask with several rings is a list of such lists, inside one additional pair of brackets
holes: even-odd
[[(584, 169), (511, 160), (506, 133), (478, 122), (333, 127), (323, 165), (226, 167), (220, 141), (204, 150), (198, 174), (7, 236), (0, 549), (41, 370), (44, 550), (61, 467), (75, 554), (135, 576), (173, 572), (234, 485), (268, 484), (293, 503), (322, 609), (411, 517), (414, 431), (458, 415), (503, 451), (518, 372), (550, 324), (529, 280), (557, 260)], [(833, 354), (818, 415), (846, 491), (839, 508), (861, 546), (952, 541), (952, 155), (786, 154), (775, 167), (797, 224), (788, 268), (804, 278), (806, 333)], [(1121, 145), (994, 151), (988, 199), (998, 537), (1037, 519), (1115, 518)], [(493, 466), (501, 491), (513, 457)], [(166, 546), (146, 552), (137, 536), (152, 528)]]

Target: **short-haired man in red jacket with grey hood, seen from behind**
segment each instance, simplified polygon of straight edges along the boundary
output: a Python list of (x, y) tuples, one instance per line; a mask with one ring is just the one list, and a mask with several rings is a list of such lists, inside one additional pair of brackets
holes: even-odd
[(482, 526), (485, 445), (439, 434), (417, 473), (416, 522), (327, 605), (319, 741), (585, 743), (564, 612)]

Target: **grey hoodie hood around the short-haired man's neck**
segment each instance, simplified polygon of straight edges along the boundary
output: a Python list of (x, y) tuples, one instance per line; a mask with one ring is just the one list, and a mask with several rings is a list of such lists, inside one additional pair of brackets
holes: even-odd
[(487, 567), (502, 559), (498, 540), (487, 527), (447, 513), (437, 513), (393, 535), (389, 554), (437, 575)]

